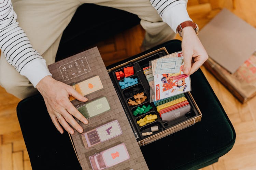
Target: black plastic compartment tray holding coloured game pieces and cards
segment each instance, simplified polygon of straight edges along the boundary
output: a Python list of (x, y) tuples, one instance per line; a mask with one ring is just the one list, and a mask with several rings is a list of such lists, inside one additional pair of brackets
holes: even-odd
[[(135, 133), (137, 133), (137, 141), (141, 141), (145, 138), (148, 138), (150, 136), (153, 136), (157, 133), (160, 133), (162, 131), (165, 131), (177, 124), (180, 124), (186, 120), (189, 120), (189, 119), (192, 119), (193, 117), (196, 117), (199, 115), (197, 109), (196, 109), (196, 106), (193, 102), (193, 100), (190, 98), (190, 96), (185, 93), (185, 96), (186, 98), (188, 99), (188, 102), (190, 103), (190, 106), (191, 106), (191, 113), (189, 115), (186, 115), (186, 116), (183, 116), (181, 118), (178, 118), (174, 121), (171, 121), (171, 122), (162, 122), (159, 114), (157, 113), (157, 110), (156, 110), (156, 107), (153, 103), (150, 103), (150, 100), (149, 100), (149, 97), (150, 97), (150, 87), (148, 85), (148, 82), (143, 74), (143, 68), (148, 66), (148, 63), (149, 61), (151, 60), (154, 60), (155, 58), (158, 58), (160, 56), (158, 56), (158, 54), (156, 55), (150, 55), (148, 57), (145, 57), (144, 59), (141, 59), (141, 60), (138, 60), (134, 63), (130, 62), (126, 65), (123, 65), (122, 67), (119, 67), (117, 69), (113, 69), (109, 72), (109, 75), (110, 75), (110, 78), (113, 82), (113, 85), (117, 91), (117, 94), (118, 94), (118, 97), (124, 107), (124, 110), (126, 112), (126, 116), (127, 118), (130, 120), (130, 124), (132, 126), (132, 129)], [(115, 72), (116, 71), (123, 71), (124, 70), (124, 67), (130, 67), (130, 66), (133, 66), (133, 70), (134, 70), (134, 75), (131, 75), (130, 78), (137, 78), (138, 79), (138, 84), (135, 84), (135, 85), (132, 85), (132, 86), (129, 86), (125, 89), (121, 89), (120, 86), (119, 86), (119, 81), (123, 81), (124, 79), (121, 79), (121, 80), (117, 80), (116, 78), (116, 75), (115, 75)], [(136, 91), (135, 93), (132, 93), (133, 91)], [(140, 92), (144, 92), (144, 95), (147, 96), (147, 99), (145, 102), (141, 103), (141, 104), (138, 104), (137, 106), (129, 106), (128, 105), (128, 100), (129, 99), (132, 99), (133, 98), (133, 95), (137, 94), (137, 93), (140, 93)], [(143, 113), (141, 115), (137, 115), (137, 116), (134, 116), (133, 115), (133, 111), (138, 107), (138, 106), (142, 106), (142, 105), (145, 105), (147, 106), (148, 104), (151, 104), (151, 106), (153, 107), (150, 112), (148, 113)], [(143, 118), (145, 117), (146, 115), (148, 114), (156, 114), (157, 115), (157, 119), (154, 121), (154, 122), (151, 122), (151, 123), (148, 123), (144, 126), (139, 126), (137, 124), (137, 120), (139, 120), (140, 118)], [(150, 132), (150, 128), (151, 126), (158, 126), (158, 129), (159, 131), (158, 132), (154, 132), (152, 135), (149, 135), (149, 136), (142, 136), (142, 133), (143, 132)]]

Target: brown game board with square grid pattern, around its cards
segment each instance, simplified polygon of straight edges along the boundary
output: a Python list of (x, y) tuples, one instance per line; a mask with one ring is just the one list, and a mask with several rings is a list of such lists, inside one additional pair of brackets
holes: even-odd
[[(108, 99), (111, 109), (98, 116), (91, 117), (88, 119), (89, 123), (87, 125), (83, 124), (82, 122), (79, 124), (83, 127), (84, 132), (86, 132), (110, 121), (117, 120), (123, 131), (122, 135), (87, 149), (83, 145), (81, 134), (75, 130), (71, 137), (82, 168), (86, 170), (92, 169), (89, 156), (114, 147), (120, 143), (125, 143), (125, 146), (130, 155), (130, 159), (109, 169), (148, 169), (141, 150), (138, 146), (137, 140), (134, 137), (131, 126), (125, 115), (124, 109), (120, 103), (109, 74), (102, 61), (98, 48), (94, 47), (79, 54), (68, 57), (64, 60), (49, 65), (48, 68), (49, 71), (53, 74), (54, 79), (69, 85), (73, 85), (75, 83), (99, 75), (103, 89), (88, 94), (86, 97), (88, 98), (88, 101), (93, 101), (97, 98), (105, 96)], [(80, 106), (84, 103), (74, 100), (72, 101), (72, 104), (75, 106)]]

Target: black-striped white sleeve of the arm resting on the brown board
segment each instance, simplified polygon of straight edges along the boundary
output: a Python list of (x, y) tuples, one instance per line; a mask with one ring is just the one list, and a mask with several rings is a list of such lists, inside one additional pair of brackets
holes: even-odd
[[(52, 75), (44, 58), (33, 49), (16, 21), (11, 0), (0, 0), (0, 48), (7, 62), (35, 87), (47, 75)], [(2, 56), (3, 57), (3, 56)]]

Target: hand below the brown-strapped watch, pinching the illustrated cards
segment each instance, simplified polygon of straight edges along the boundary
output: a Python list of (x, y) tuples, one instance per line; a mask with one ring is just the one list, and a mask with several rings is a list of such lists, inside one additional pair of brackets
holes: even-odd
[(181, 47), (184, 56), (184, 74), (191, 75), (207, 61), (208, 54), (192, 27), (182, 29)]

